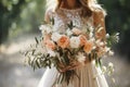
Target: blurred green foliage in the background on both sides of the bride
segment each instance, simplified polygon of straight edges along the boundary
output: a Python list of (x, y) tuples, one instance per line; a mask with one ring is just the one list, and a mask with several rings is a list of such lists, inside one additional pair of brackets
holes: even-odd
[[(130, 0), (99, 0), (106, 9), (108, 33), (119, 32), (120, 52), (130, 54)], [(0, 0), (0, 44), (22, 33), (39, 32), (46, 0)]]

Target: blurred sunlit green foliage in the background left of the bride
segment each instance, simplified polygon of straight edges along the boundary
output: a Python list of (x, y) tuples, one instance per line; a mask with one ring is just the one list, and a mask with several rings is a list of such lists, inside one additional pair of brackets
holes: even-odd
[(46, 0), (0, 0), (0, 44), (23, 33), (38, 32)]

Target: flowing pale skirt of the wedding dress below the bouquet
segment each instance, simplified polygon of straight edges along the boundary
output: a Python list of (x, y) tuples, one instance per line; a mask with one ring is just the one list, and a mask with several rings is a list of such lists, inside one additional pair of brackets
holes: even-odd
[(70, 79), (69, 84), (54, 84), (57, 78), (58, 72), (55, 67), (47, 69), (38, 87), (108, 87), (104, 74), (100, 66), (95, 66), (95, 62), (90, 62), (84, 66), (76, 70), (77, 76)]

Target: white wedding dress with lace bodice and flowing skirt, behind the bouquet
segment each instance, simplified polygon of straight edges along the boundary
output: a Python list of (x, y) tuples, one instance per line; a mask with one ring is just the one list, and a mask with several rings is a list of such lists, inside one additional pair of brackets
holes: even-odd
[[(69, 22), (73, 22), (73, 24), (78, 28), (81, 28), (84, 24), (93, 26), (93, 17), (81, 17), (81, 10), (82, 9), (60, 9), (58, 14), (49, 12), (49, 15), (54, 18), (54, 28), (57, 29), (57, 32), (62, 33), (66, 30), (66, 24)], [(38, 87), (108, 87), (101, 69), (95, 66), (95, 61), (92, 61), (84, 66), (77, 69), (76, 73), (80, 77), (80, 80), (78, 77), (75, 77), (68, 85), (66, 83), (54, 84), (58, 72), (55, 67), (47, 69), (38, 84)]]

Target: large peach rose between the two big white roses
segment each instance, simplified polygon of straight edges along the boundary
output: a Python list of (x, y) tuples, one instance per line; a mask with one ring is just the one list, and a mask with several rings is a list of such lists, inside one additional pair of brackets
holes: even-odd
[(63, 35), (58, 40), (57, 40), (57, 46), (61, 48), (67, 48), (69, 46), (69, 38), (65, 35)]

